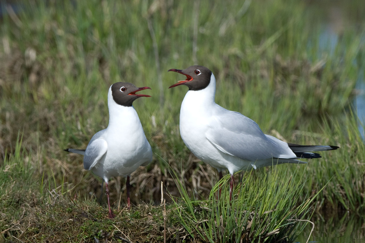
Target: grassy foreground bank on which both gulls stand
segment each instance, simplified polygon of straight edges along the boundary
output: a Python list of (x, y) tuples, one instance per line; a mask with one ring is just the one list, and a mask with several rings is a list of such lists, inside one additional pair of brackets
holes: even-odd
[[(296, 184), (306, 173), (290, 173), (288, 165), (266, 174), (246, 172), (231, 201), (230, 175), (214, 185), (207, 200), (197, 200), (175, 172), (171, 177), (180, 195), (164, 193), (173, 203), (128, 210), (119, 199), (116, 218), (110, 220), (96, 195), (72, 195), (55, 180), (34, 180), (34, 168), (23, 161), (32, 154), (20, 145), (15, 148), (19, 156), (5, 158), (6, 176), (0, 177), (0, 242), (293, 242), (315, 206), (316, 195), (303, 197), (304, 184)], [(281, 180), (288, 173), (291, 177)]]

